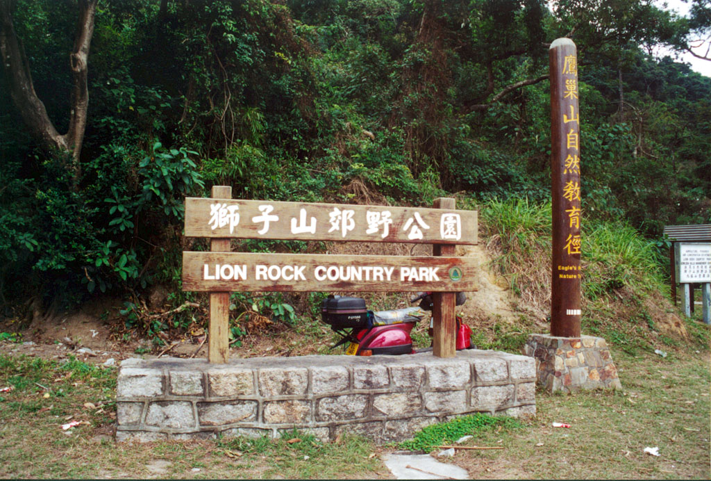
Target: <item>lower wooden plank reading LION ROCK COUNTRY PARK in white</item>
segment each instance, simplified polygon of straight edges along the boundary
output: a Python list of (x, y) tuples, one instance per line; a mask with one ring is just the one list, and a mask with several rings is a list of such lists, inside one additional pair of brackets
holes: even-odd
[(183, 290), (476, 290), (474, 258), (183, 252)]

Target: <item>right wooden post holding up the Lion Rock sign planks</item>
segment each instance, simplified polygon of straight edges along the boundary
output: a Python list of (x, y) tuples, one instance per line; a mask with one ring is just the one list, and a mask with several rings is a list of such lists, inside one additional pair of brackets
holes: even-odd
[[(434, 199), (434, 208), (454, 210), (456, 201), (450, 197)], [(434, 244), (433, 255), (454, 255), (455, 245)], [(432, 354), (437, 357), (454, 357), (456, 354), (456, 293), (434, 292), (432, 295)]]

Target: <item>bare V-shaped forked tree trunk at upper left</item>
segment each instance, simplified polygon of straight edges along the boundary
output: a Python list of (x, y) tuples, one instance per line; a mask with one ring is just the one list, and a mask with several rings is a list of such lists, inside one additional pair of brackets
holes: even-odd
[(12, 102), (33, 136), (41, 141), (46, 150), (58, 151), (70, 159), (67, 168), (72, 173), (75, 188), (81, 177), (79, 157), (89, 107), (87, 62), (94, 33), (97, 1), (77, 1), (79, 11), (74, 48), (69, 57), (73, 83), (69, 127), (65, 134), (60, 134), (35, 92), (30, 63), (15, 32), (12, 15), (16, 9), (16, 0), (0, 0), (0, 56)]

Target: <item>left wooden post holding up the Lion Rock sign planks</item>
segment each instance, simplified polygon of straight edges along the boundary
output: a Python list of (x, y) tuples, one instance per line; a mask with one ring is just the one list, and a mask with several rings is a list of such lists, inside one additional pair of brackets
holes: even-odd
[[(232, 199), (232, 187), (213, 186), (213, 199)], [(212, 252), (229, 252), (230, 239), (210, 240)], [(230, 292), (210, 292), (208, 362), (225, 364), (230, 356)]]

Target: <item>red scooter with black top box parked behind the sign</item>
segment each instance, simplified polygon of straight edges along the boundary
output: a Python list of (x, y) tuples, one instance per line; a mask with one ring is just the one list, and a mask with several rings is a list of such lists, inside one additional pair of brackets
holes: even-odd
[[(321, 303), (321, 319), (341, 335), (331, 349), (348, 344), (346, 354), (373, 356), (377, 354), (413, 354), (410, 331), (422, 320), (425, 311), (432, 310), (432, 292), (417, 292), (410, 302), (419, 307), (405, 307), (373, 312), (365, 308), (360, 297), (328, 296)], [(466, 302), (464, 292), (456, 295), (456, 305)], [(432, 337), (432, 322), (429, 335)], [(471, 349), (471, 329), (456, 317), (456, 349)]]

